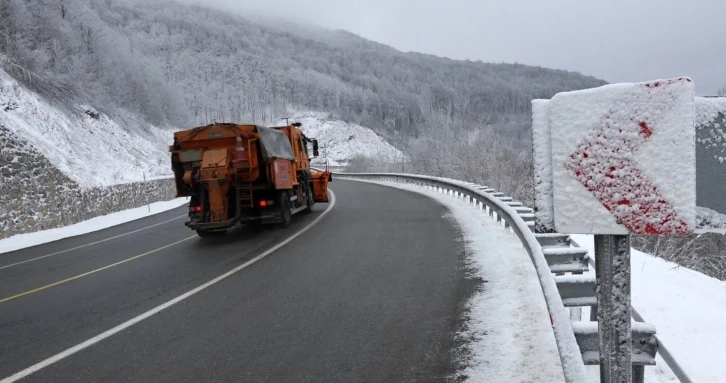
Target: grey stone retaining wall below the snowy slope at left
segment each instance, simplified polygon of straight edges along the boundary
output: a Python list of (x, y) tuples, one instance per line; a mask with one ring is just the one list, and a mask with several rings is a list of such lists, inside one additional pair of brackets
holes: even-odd
[(172, 179), (81, 188), (0, 125), (0, 239), (174, 198)]

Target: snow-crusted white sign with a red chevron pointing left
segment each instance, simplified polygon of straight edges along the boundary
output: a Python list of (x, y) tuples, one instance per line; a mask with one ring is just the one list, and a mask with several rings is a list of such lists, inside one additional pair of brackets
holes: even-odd
[(693, 232), (691, 79), (558, 93), (532, 109), (538, 231)]

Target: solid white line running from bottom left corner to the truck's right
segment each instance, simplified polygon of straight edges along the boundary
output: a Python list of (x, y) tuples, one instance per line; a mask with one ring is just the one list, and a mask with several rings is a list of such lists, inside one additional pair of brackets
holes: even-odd
[(273, 246), (272, 248), (268, 249), (264, 253), (262, 253), (262, 254), (260, 254), (260, 255), (258, 255), (256, 257), (254, 257), (254, 258), (250, 259), (249, 261), (247, 261), (247, 262), (245, 262), (245, 263), (243, 263), (243, 264), (235, 267), (234, 269), (232, 269), (232, 270), (230, 270), (230, 271), (228, 271), (228, 272), (226, 272), (226, 273), (218, 276), (217, 278), (214, 278), (211, 281), (209, 281), (209, 282), (207, 282), (207, 283), (205, 283), (205, 284), (203, 284), (203, 285), (201, 285), (201, 286), (199, 286), (199, 287), (197, 287), (197, 288), (195, 288), (193, 290), (190, 290), (190, 291), (188, 291), (188, 292), (186, 292), (186, 293), (184, 293), (184, 294), (182, 294), (182, 295), (180, 295), (180, 296), (178, 296), (178, 297), (176, 297), (176, 298), (174, 298), (174, 299), (172, 299), (172, 300), (170, 300), (170, 301), (168, 301), (166, 303), (163, 303), (163, 304), (161, 304), (161, 305), (159, 305), (159, 306), (157, 306), (157, 307), (155, 307), (155, 308), (153, 308), (153, 309), (151, 309), (151, 310), (149, 310), (149, 311), (147, 311), (147, 312), (145, 312), (145, 313), (143, 313), (143, 314), (141, 314), (141, 315), (139, 315), (139, 316), (137, 316), (135, 318), (132, 318), (132, 319), (130, 319), (130, 320), (124, 322), (124, 323), (121, 323), (120, 325), (118, 325), (118, 326), (116, 326), (116, 327), (114, 327), (114, 328), (112, 328), (110, 330), (106, 330), (106, 331), (104, 331), (104, 332), (102, 332), (102, 333), (94, 336), (93, 338), (88, 339), (87, 341), (85, 341), (83, 343), (80, 343), (78, 345), (75, 345), (75, 346), (73, 346), (73, 347), (71, 347), (71, 348), (69, 348), (69, 349), (67, 349), (67, 350), (65, 350), (65, 351), (63, 351), (63, 352), (61, 352), (59, 354), (56, 354), (56, 355), (51, 356), (50, 358), (48, 358), (48, 359), (46, 359), (46, 360), (44, 360), (42, 362), (36, 363), (36, 364), (34, 364), (34, 365), (32, 365), (32, 366), (30, 366), (30, 367), (28, 367), (28, 368), (26, 368), (26, 369), (24, 369), (24, 370), (22, 370), (20, 372), (17, 372), (15, 374), (13, 374), (13, 375), (11, 375), (11, 376), (3, 379), (3, 380), (0, 380), (0, 383), (13, 383), (13, 382), (16, 382), (16, 381), (18, 381), (18, 380), (20, 380), (20, 379), (22, 379), (22, 378), (24, 378), (24, 377), (26, 377), (26, 376), (28, 376), (30, 374), (33, 374), (35, 372), (38, 372), (38, 371), (40, 371), (40, 370), (42, 370), (42, 369), (44, 369), (44, 368), (46, 368), (46, 367), (48, 367), (48, 366), (56, 363), (56, 362), (59, 362), (59, 361), (65, 359), (65, 358), (67, 358), (67, 357), (69, 357), (69, 356), (71, 356), (71, 355), (73, 355), (73, 354), (75, 354), (75, 353), (77, 353), (77, 352), (85, 349), (85, 348), (88, 348), (90, 346), (93, 346), (94, 344), (96, 344), (96, 343), (98, 343), (98, 342), (100, 342), (100, 341), (102, 341), (102, 340), (104, 340), (106, 338), (109, 338), (109, 337), (113, 336), (114, 334), (117, 334), (117, 333), (119, 333), (119, 332), (121, 332), (121, 331), (123, 331), (123, 330), (125, 330), (125, 329), (127, 329), (127, 328), (129, 328), (129, 327), (131, 327), (131, 326), (133, 326), (133, 325), (141, 322), (142, 320), (144, 320), (146, 318), (149, 318), (150, 316), (152, 316), (154, 314), (158, 314), (162, 310), (164, 310), (166, 308), (169, 308), (169, 307), (171, 307), (171, 306), (173, 306), (173, 305), (175, 305), (175, 304), (177, 304), (177, 303), (179, 303), (179, 302), (181, 302), (181, 301), (183, 301), (183, 300), (191, 297), (192, 295), (194, 295), (194, 294), (196, 294), (196, 293), (198, 293), (198, 292), (200, 292), (200, 291), (202, 291), (204, 289), (207, 289), (208, 287), (210, 287), (212, 285), (215, 285), (215, 284), (219, 283), (220, 281), (222, 281), (222, 280), (224, 280), (224, 279), (232, 276), (233, 274), (236, 274), (240, 270), (242, 270), (242, 269), (244, 269), (244, 268), (246, 268), (246, 267), (248, 267), (248, 266), (256, 263), (257, 261), (261, 260), (262, 258), (265, 258), (266, 256), (274, 253), (275, 251), (277, 251), (281, 247), (283, 247), (283, 246), (287, 245), (288, 243), (290, 243), (293, 239), (299, 237), (302, 233), (308, 231), (310, 228), (312, 228), (313, 226), (315, 226), (318, 222), (320, 222), (321, 219), (323, 219), (323, 217), (325, 217), (325, 215), (327, 215), (330, 212), (331, 209), (333, 209), (333, 206), (335, 206), (335, 194), (330, 189), (328, 189), (328, 193), (330, 193), (330, 204), (328, 205), (328, 208), (325, 209), (325, 211), (322, 214), (320, 214), (317, 218), (315, 218), (315, 220), (313, 220), (312, 222), (310, 222), (307, 226), (305, 226), (304, 228), (302, 228), (300, 231), (298, 231), (297, 233), (291, 235), (286, 240), (278, 243), (277, 245)]

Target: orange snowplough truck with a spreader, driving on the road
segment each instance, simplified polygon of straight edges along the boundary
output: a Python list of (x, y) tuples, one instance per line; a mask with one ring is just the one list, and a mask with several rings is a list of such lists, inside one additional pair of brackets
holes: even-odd
[(177, 197), (191, 197), (187, 227), (200, 237), (234, 226), (278, 223), (328, 202), (331, 173), (312, 171), (300, 123), (264, 127), (216, 123), (174, 133), (169, 147)]

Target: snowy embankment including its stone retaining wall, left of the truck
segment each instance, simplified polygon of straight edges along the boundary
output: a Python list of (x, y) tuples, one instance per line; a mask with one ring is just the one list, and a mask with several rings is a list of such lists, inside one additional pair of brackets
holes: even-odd
[(170, 130), (69, 105), (0, 70), (0, 238), (174, 198)]

